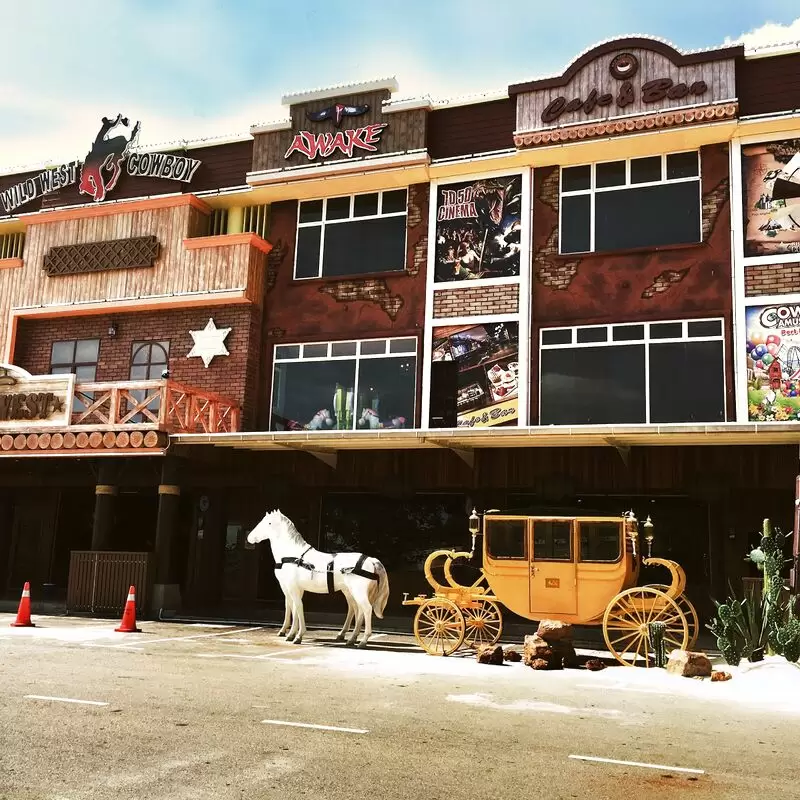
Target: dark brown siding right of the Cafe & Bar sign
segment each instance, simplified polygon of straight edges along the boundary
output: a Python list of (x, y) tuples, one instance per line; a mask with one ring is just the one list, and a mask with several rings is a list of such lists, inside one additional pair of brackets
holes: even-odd
[(743, 117), (800, 109), (800, 53), (739, 59), (736, 89)]

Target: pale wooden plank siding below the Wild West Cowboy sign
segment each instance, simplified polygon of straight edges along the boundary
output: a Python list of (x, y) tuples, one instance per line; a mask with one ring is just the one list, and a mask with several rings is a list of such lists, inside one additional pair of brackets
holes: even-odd
[[(202, 232), (207, 216), (184, 198), (178, 201), (165, 208), (88, 218), (76, 214), (29, 226), (23, 267), (0, 270), (0, 319), (5, 322), (20, 307), (108, 302), (113, 308), (115, 300), (212, 290), (245, 289), (248, 299), (260, 303), (265, 254), (248, 243), (186, 249), (183, 240)], [(43, 269), (51, 247), (147, 235), (156, 236), (161, 246), (153, 267), (52, 278)], [(7, 327), (0, 330), (0, 353), (6, 352), (9, 335)]]

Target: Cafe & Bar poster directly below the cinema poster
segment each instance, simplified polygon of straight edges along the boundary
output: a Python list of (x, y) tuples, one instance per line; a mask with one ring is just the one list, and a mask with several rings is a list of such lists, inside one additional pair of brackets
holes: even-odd
[(433, 361), (458, 365), (456, 425), (486, 428), (519, 419), (519, 324), (433, 329)]

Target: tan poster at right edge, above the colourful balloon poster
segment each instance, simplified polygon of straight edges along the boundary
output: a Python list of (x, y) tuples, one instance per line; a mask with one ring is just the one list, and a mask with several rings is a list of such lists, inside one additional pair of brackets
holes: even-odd
[(742, 147), (744, 254), (800, 253), (800, 139)]

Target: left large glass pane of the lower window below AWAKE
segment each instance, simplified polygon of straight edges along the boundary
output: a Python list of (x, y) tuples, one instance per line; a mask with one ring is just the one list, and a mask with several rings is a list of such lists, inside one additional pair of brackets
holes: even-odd
[(351, 359), (276, 364), (272, 430), (352, 429), (355, 375)]

